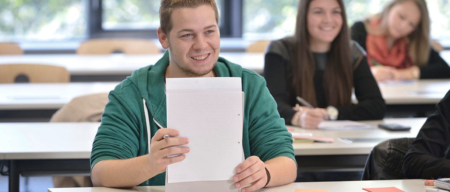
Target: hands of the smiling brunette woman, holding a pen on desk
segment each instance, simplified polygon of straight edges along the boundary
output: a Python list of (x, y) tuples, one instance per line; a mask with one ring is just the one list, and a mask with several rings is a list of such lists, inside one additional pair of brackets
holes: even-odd
[(316, 129), (320, 122), (328, 119), (326, 109), (308, 108), (306, 106), (293, 107), (297, 113), (291, 119), (293, 126), (304, 127), (306, 129)]

